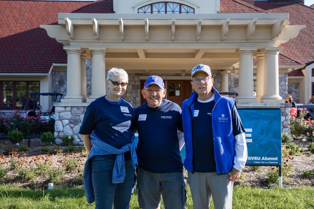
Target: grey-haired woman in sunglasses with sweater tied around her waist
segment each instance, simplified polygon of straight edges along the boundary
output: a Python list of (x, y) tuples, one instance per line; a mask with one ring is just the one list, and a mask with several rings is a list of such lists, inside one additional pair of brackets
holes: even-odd
[(84, 188), (95, 208), (129, 208), (137, 157), (132, 133), (135, 112), (120, 97), (128, 75), (112, 68), (107, 75), (107, 95), (86, 108), (79, 133), (89, 157), (84, 166)]

